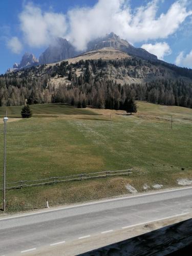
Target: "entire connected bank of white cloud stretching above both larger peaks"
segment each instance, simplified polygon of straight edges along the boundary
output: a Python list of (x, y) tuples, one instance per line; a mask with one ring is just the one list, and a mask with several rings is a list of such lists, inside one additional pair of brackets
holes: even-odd
[(27, 4), (19, 15), (20, 29), (31, 47), (47, 46), (55, 37), (66, 37), (78, 50), (86, 50), (90, 40), (110, 32), (133, 44), (147, 42), (172, 35), (192, 14), (186, 9), (186, 0), (177, 0), (157, 16), (160, 1), (131, 9), (129, 0), (98, 0), (93, 7), (73, 8), (66, 15)]

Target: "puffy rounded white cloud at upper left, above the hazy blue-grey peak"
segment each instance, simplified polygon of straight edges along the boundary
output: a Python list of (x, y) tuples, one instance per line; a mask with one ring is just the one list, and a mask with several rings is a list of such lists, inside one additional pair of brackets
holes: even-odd
[(25, 6), (19, 15), (20, 29), (29, 46), (49, 45), (54, 38), (65, 36), (66, 17), (61, 13), (44, 12), (32, 4)]

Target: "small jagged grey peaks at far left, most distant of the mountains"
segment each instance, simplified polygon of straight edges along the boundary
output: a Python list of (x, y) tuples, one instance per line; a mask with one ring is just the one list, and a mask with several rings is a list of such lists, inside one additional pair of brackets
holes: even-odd
[(26, 68), (30, 68), (32, 66), (37, 66), (38, 65), (38, 59), (29, 52), (26, 52), (23, 57), (22, 60), (20, 61), (20, 63), (14, 63), (13, 65), (13, 69), (8, 69), (8, 72), (11, 71), (17, 71), (20, 69), (26, 69)]

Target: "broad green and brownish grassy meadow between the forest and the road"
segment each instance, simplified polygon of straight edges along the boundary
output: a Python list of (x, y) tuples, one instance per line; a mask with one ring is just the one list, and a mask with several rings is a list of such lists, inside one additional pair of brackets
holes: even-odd
[[(133, 167), (130, 177), (76, 181), (13, 189), (9, 211), (92, 200), (138, 191), (143, 185), (177, 186), (192, 179), (192, 110), (138, 102), (136, 115), (123, 111), (75, 109), (60, 104), (32, 105), (44, 118), (10, 118), (7, 131), (7, 182)], [(0, 108), (17, 115), (21, 107)], [(110, 115), (112, 114), (112, 120)], [(170, 116), (173, 129), (170, 129)], [(3, 181), (3, 121), (0, 123)]]

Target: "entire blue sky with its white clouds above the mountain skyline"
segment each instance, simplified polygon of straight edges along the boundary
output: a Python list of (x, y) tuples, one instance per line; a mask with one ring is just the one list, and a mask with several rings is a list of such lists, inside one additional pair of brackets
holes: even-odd
[(0, 74), (23, 54), (37, 58), (57, 36), (78, 50), (115, 32), (167, 62), (192, 68), (191, 0), (2, 0)]

